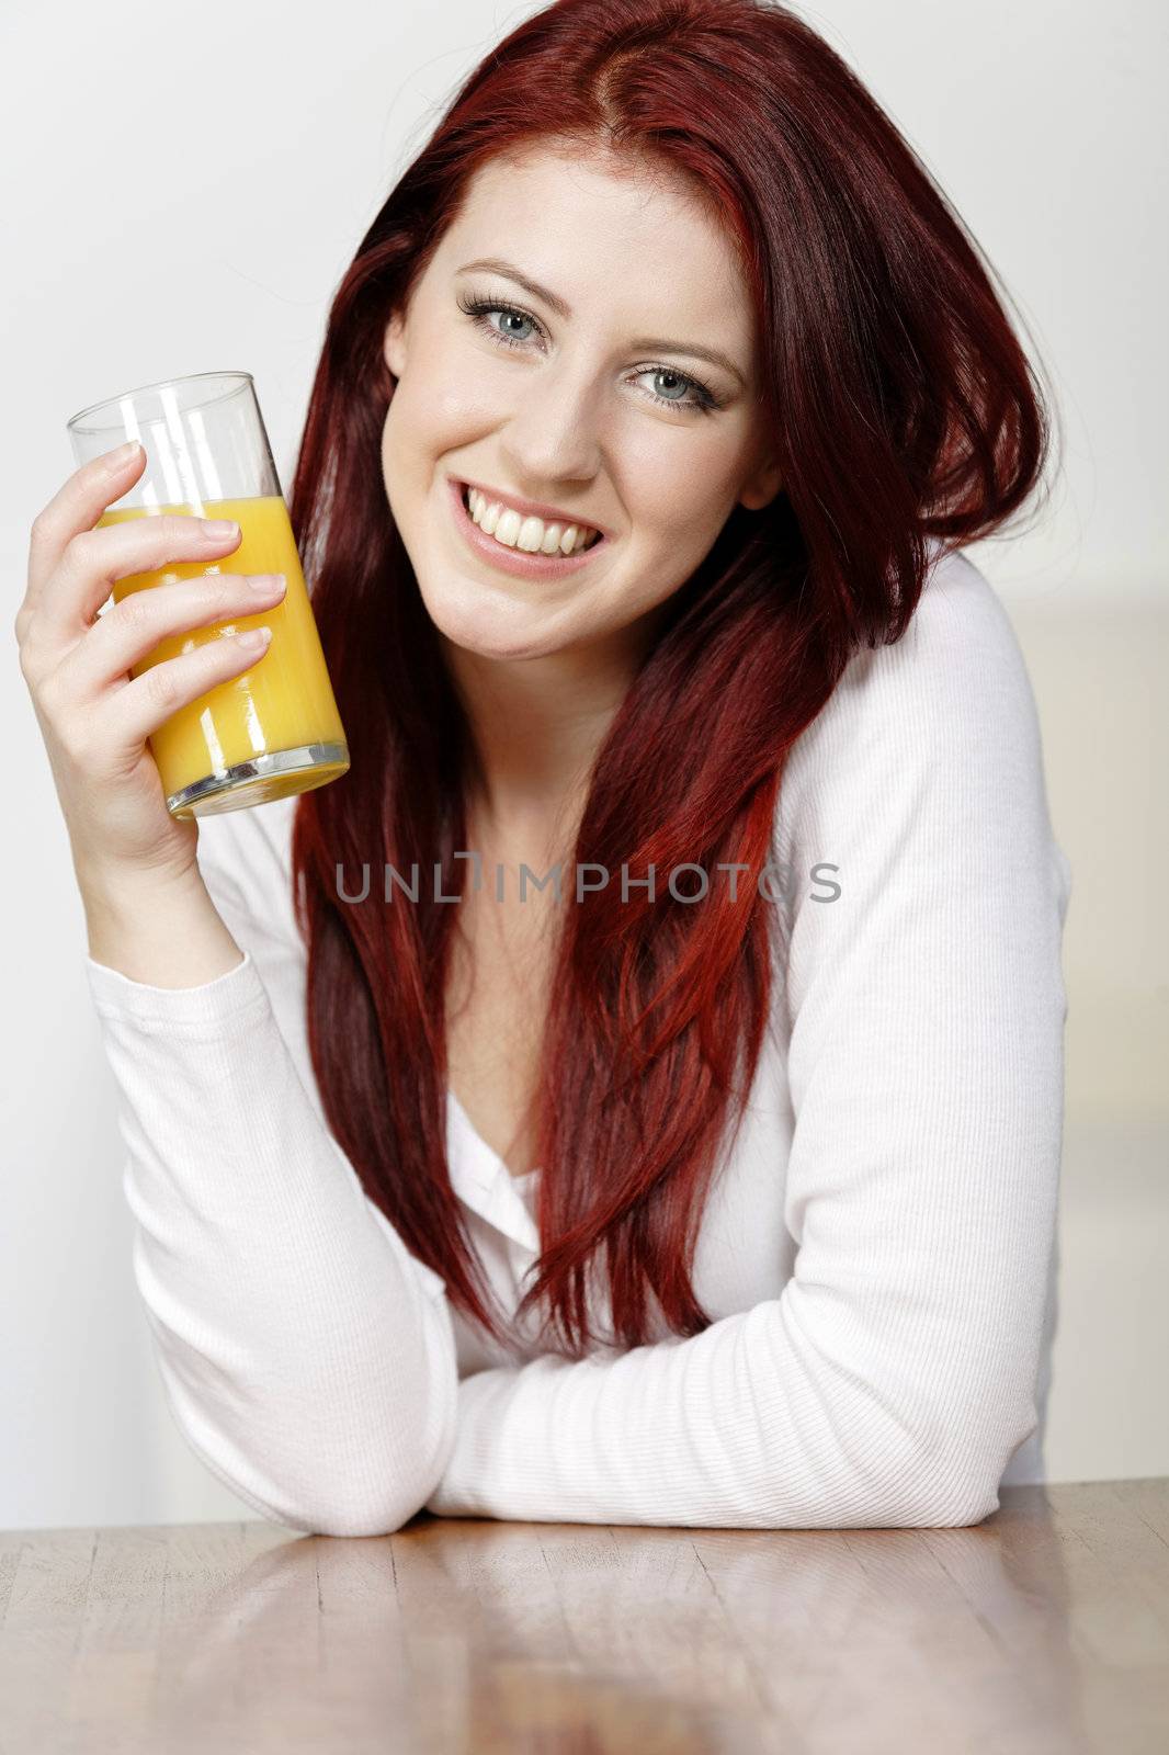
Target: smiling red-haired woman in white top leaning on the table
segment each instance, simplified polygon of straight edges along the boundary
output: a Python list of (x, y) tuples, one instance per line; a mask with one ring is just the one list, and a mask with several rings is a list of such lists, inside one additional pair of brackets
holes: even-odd
[(953, 1525), (1041, 1478), (1069, 874), (960, 546), (1046, 448), (974, 246), (806, 25), (562, 0), (333, 300), (291, 512), (342, 783), (170, 820), (149, 730), (256, 660), (126, 670), (256, 598), (93, 618), (233, 539), (93, 530), (140, 456), (44, 509), (21, 665), (137, 1281), (244, 1501)]

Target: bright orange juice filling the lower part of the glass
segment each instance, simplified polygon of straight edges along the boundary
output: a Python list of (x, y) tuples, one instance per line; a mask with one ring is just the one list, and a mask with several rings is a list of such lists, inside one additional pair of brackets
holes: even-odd
[(283, 572), (288, 581), (286, 595), (277, 604), (174, 634), (132, 667), (130, 674), (137, 677), (205, 641), (265, 625), (272, 628), (269, 648), (255, 669), (218, 683), (151, 734), (151, 753), (172, 813), (190, 818), (232, 811), (337, 779), (349, 767), (349, 748), (283, 497), (200, 500), (197, 505), (160, 505), (156, 511), (133, 505), (104, 512), (98, 526), (156, 512), (233, 518), (240, 542), (211, 567), (181, 562), (118, 579), (116, 604), (132, 591), (207, 572)]

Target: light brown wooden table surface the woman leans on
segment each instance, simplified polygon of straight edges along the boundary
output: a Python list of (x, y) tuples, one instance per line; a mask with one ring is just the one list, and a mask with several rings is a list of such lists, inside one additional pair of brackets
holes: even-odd
[(2, 1755), (1165, 1755), (1169, 1479), (953, 1530), (18, 1530), (0, 1618)]

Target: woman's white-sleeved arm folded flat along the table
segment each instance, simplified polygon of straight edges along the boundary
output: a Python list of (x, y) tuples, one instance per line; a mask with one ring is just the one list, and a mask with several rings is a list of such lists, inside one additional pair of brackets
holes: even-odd
[[(1069, 867), (1006, 611), (962, 556), (792, 753), (795, 1132), (776, 1299), (692, 1339), (463, 1378), (430, 1511), (739, 1529), (978, 1523), (1036, 1429)], [(783, 1000), (781, 1000), (783, 1002)]]

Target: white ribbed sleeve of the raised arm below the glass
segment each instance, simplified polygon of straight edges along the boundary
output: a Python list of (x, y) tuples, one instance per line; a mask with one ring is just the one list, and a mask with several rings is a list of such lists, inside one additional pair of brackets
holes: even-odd
[(235, 969), (197, 988), (86, 969), (118, 1085), (133, 1272), (181, 1430), (263, 1516), (370, 1536), (412, 1516), (441, 1472), (455, 1341), (442, 1279), (365, 1199), (323, 1120), (272, 835), (293, 802), (200, 825)]

